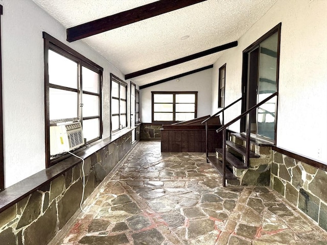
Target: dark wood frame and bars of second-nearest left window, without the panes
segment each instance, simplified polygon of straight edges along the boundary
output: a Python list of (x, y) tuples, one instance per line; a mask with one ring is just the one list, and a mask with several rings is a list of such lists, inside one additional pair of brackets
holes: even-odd
[[(125, 128), (127, 128), (127, 88), (128, 88), (128, 85), (127, 85), (127, 83), (126, 82), (124, 82), (123, 80), (121, 80), (120, 78), (118, 78), (118, 77), (116, 77), (116, 76), (114, 76), (112, 73), (110, 73), (110, 85), (111, 85), (111, 88), (112, 88), (112, 83), (114, 82), (114, 83), (118, 83), (118, 87), (119, 87), (119, 91), (118, 91), (118, 93), (119, 93), (119, 97), (113, 97), (112, 96), (112, 94), (111, 94), (111, 90), (110, 90), (110, 99), (112, 100), (112, 99), (114, 99), (114, 100), (118, 100), (118, 105), (119, 105), (119, 113), (116, 113), (116, 114), (112, 114), (112, 103), (110, 103), (111, 104), (111, 107), (110, 107), (110, 110), (111, 110), (111, 124), (110, 124), (110, 127), (111, 127), (111, 133), (116, 133), (116, 132), (118, 132), (118, 131), (120, 131), (120, 130), (122, 130), (122, 129), (125, 129)], [(125, 97), (126, 97), (126, 99), (122, 99), (121, 98), (121, 91), (120, 91), (120, 89), (121, 89), (121, 86), (124, 86), (124, 87), (126, 87), (126, 95), (125, 95)], [(126, 108), (125, 108), (125, 113), (122, 113), (121, 112), (121, 101), (124, 101), (125, 102), (125, 104), (126, 104)], [(117, 130), (112, 130), (112, 116), (119, 116), (119, 122), (121, 122), (121, 116), (122, 115), (125, 115), (126, 116), (126, 127), (122, 127), (122, 128), (120, 128), (119, 127), (119, 129), (117, 129)]]

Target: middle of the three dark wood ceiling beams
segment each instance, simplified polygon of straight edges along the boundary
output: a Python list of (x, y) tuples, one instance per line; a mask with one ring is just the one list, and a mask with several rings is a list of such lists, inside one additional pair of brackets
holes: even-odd
[(237, 41), (229, 42), (229, 43), (217, 46), (217, 47), (213, 47), (213, 48), (211, 48), (209, 50), (202, 51), (200, 53), (189, 55), (189, 56), (177, 59), (177, 60), (169, 61), (169, 62), (164, 63), (164, 64), (155, 65), (155, 66), (152, 66), (150, 68), (143, 69), (143, 70), (138, 70), (138, 71), (135, 71), (135, 72), (132, 72), (130, 74), (125, 75), (125, 80), (135, 78), (135, 77), (138, 77), (138, 76), (142, 76), (142, 75), (151, 73), (153, 71), (165, 69), (165, 68), (168, 68), (170, 66), (178, 65), (178, 64), (190, 61), (190, 60), (198, 59), (198, 58), (201, 58), (201, 57), (206, 56), (206, 55), (211, 55), (211, 54), (223, 51), (223, 50), (227, 50), (228, 48), (236, 47), (237, 45), (238, 45)]

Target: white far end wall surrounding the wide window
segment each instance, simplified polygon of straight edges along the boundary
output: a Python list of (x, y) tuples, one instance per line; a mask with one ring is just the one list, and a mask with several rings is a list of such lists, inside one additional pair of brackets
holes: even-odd
[(139, 90), (141, 121), (151, 122), (151, 91), (198, 91), (197, 116), (205, 116), (211, 113), (211, 81), (213, 69), (206, 69), (192, 75), (188, 75)]

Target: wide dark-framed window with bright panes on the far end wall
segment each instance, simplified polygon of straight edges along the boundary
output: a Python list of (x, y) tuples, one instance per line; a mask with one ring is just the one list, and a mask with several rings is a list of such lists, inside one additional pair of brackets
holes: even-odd
[(176, 122), (197, 116), (198, 92), (151, 92), (152, 122)]

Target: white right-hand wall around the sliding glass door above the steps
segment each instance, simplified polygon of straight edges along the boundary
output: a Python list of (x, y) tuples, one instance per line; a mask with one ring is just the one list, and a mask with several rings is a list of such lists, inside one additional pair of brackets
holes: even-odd
[[(228, 105), (241, 96), (242, 51), (282, 22), (277, 146), (327, 163), (326, 13), (327, 1), (278, 1), (214, 64), (212, 112), (218, 111), (219, 67), (226, 63)], [(240, 112), (239, 103), (229, 119)]]

